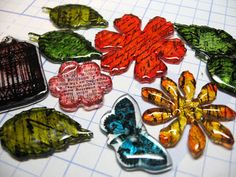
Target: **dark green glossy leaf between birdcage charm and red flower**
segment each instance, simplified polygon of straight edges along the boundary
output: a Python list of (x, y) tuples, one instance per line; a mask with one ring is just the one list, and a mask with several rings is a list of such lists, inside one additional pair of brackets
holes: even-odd
[(29, 33), (30, 40), (38, 42), (40, 51), (53, 62), (77, 62), (99, 59), (101, 53), (91, 42), (71, 30), (47, 32), (43, 35)]

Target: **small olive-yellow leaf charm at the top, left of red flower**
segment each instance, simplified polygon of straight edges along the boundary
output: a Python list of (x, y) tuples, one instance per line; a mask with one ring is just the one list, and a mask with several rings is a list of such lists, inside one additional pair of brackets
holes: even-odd
[(94, 9), (79, 4), (67, 4), (54, 8), (43, 7), (58, 28), (87, 29), (107, 27), (108, 22)]

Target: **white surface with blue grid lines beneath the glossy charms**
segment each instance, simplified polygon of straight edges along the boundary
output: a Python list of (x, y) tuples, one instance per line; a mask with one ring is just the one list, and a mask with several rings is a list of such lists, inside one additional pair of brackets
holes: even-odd
[[(11, 35), (21, 40), (28, 40), (28, 32), (43, 34), (56, 28), (49, 21), (48, 14), (42, 11), (43, 6), (54, 7), (59, 4), (79, 3), (88, 5), (109, 21), (108, 30), (114, 31), (113, 20), (132, 13), (142, 19), (142, 27), (154, 16), (162, 16), (171, 22), (184, 24), (208, 25), (224, 29), (236, 38), (236, 0), (0, 0), (0, 38)], [(94, 42), (94, 37), (101, 29), (77, 30), (88, 40)], [(187, 46), (186, 46), (187, 47)], [(179, 65), (168, 65), (167, 76), (177, 81), (182, 71), (189, 70), (197, 80), (196, 94), (201, 87), (209, 82), (206, 75), (206, 64), (194, 56), (187, 47), (187, 54)], [(56, 75), (60, 65), (52, 64), (42, 57), (43, 68), (47, 80)], [(96, 61), (99, 63), (99, 61)], [(112, 77), (113, 90), (105, 95), (102, 108), (94, 111), (84, 111), (80, 108), (75, 113), (66, 113), (78, 121), (84, 128), (94, 132), (92, 141), (70, 146), (66, 151), (37, 160), (19, 162), (14, 160), (0, 147), (1, 177), (32, 177), (32, 176), (152, 176), (142, 171), (126, 172), (121, 169), (115, 159), (114, 151), (107, 144), (107, 137), (99, 129), (101, 116), (111, 109), (114, 101), (121, 95), (129, 93), (133, 96), (141, 112), (153, 107), (140, 97), (143, 86), (160, 88), (160, 79), (152, 84), (140, 84), (133, 79), (134, 65), (122, 75)], [(235, 97), (218, 91), (215, 104), (225, 104), (236, 109)], [(48, 97), (32, 106), (0, 114), (0, 125), (6, 120), (28, 110), (31, 107), (47, 106), (60, 110), (58, 99)], [(60, 110), (61, 111), (61, 110)], [(223, 123), (236, 138), (235, 121)], [(167, 124), (165, 124), (166, 126)], [(149, 127), (151, 135), (158, 137), (162, 126)], [(168, 149), (173, 168), (169, 172), (155, 176), (163, 177), (235, 177), (236, 176), (236, 145), (232, 150), (213, 144), (207, 138), (206, 149), (199, 159), (193, 159), (187, 149), (189, 126), (176, 147)]]

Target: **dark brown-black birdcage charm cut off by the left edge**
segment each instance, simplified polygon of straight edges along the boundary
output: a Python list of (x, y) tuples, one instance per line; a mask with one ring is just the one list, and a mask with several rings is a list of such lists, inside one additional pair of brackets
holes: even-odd
[(0, 112), (38, 102), (48, 94), (37, 47), (6, 37), (0, 43)]

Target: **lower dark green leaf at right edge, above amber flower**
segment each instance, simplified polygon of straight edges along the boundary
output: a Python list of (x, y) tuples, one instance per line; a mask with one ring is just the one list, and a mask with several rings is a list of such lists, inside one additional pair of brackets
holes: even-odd
[(207, 70), (217, 86), (236, 95), (236, 58), (219, 57), (209, 59)]

